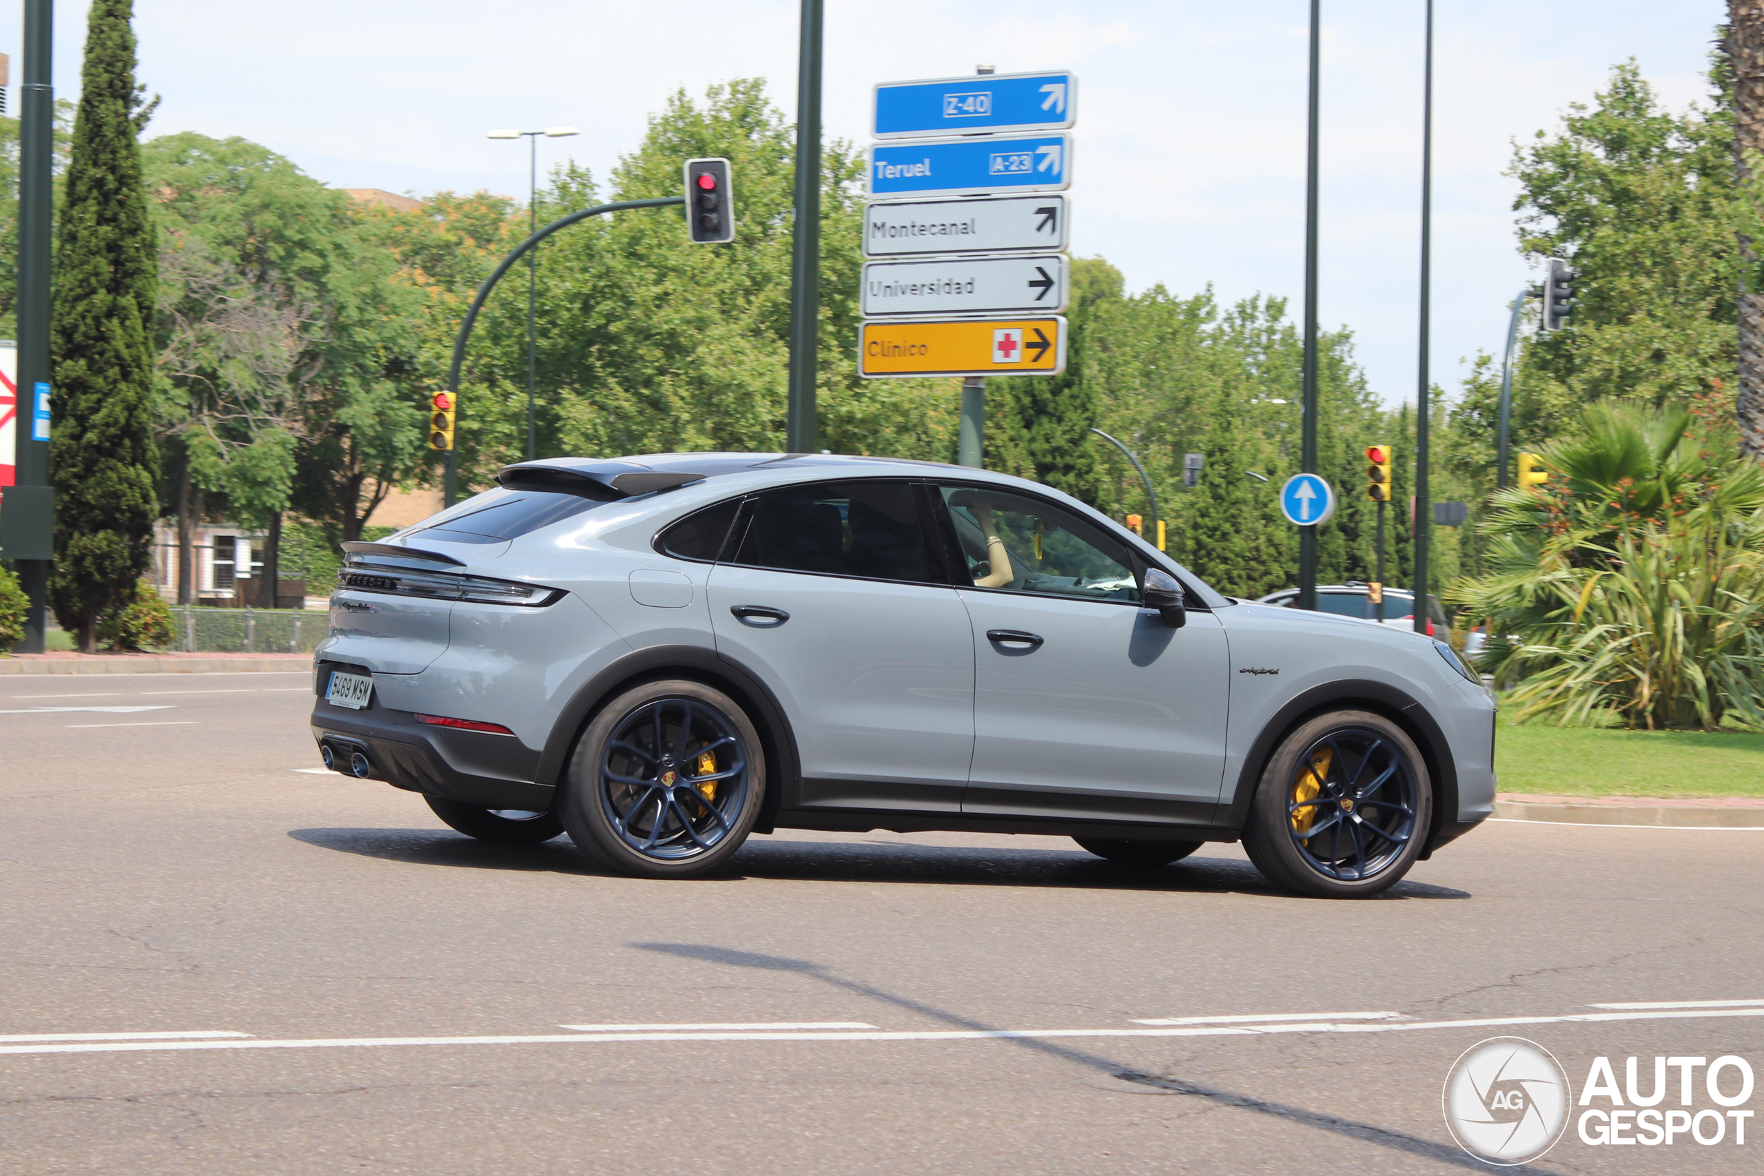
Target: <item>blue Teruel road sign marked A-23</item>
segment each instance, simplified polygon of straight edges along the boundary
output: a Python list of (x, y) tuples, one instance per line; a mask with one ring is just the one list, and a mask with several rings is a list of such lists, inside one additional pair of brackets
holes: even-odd
[(1058, 192), (1073, 183), (1073, 136), (921, 139), (870, 148), (871, 196)]

